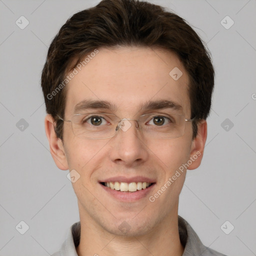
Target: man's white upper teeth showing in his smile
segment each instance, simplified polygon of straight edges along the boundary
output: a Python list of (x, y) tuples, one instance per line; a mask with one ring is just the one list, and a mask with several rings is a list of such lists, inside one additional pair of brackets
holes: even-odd
[(120, 190), (120, 191), (130, 191), (134, 192), (140, 189), (145, 189), (148, 187), (151, 183), (148, 182), (131, 182), (131, 183), (126, 183), (126, 182), (105, 182), (105, 186), (110, 187), (111, 189), (114, 190)]

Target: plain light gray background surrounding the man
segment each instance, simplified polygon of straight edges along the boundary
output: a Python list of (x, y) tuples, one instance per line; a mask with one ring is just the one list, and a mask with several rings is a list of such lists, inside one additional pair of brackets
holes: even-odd
[[(97, 2), (0, 0), (0, 255), (49, 255), (79, 219), (68, 171), (58, 170), (48, 150), (39, 80), (60, 26)], [(179, 214), (205, 245), (228, 255), (256, 255), (256, 1), (150, 2), (194, 26), (216, 70), (203, 161), (187, 173)], [(21, 15), (29, 21), (24, 29), (15, 24)], [(226, 15), (234, 21), (229, 29), (221, 24)], [(24, 224), (15, 229), (21, 220), (29, 226), (23, 235)]]

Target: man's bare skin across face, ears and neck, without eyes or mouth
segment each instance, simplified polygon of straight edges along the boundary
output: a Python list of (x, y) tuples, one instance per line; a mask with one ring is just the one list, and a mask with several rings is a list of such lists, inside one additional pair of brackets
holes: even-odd
[[(178, 67), (178, 80), (169, 72)], [(167, 99), (179, 103), (190, 118), (189, 79), (178, 57), (167, 50), (149, 47), (99, 48), (96, 56), (72, 78), (67, 86), (64, 119), (71, 118), (74, 106), (84, 99), (107, 100), (117, 106), (121, 118), (143, 114), (139, 105), (148, 100)], [(81, 139), (74, 136), (71, 123), (64, 122), (63, 141), (56, 137), (53, 120), (45, 117), (50, 152), (60, 169), (75, 169), (80, 178), (72, 183), (78, 199), (81, 222), (81, 255), (182, 255), (177, 225), (178, 197), (185, 171), (154, 202), (148, 200), (182, 163), (196, 152), (201, 154), (188, 167), (200, 165), (206, 140), (206, 121), (198, 125), (192, 139), (191, 122), (173, 139), (144, 138), (131, 121), (127, 131), (118, 130), (108, 139)], [(137, 201), (119, 201), (98, 183), (112, 176), (141, 175), (156, 180), (150, 194)], [(118, 226), (126, 221), (129, 230)], [(164, 239), (162, 238), (164, 237)]]

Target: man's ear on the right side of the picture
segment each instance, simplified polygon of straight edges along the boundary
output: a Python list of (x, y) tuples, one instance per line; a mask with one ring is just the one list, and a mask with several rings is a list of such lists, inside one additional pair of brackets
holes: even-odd
[(196, 137), (193, 139), (191, 144), (189, 159), (192, 161), (192, 163), (189, 165), (187, 169), (196, 169), (201, 164), (206, 138), (207, 122), (205, 120), (201, 120), (197, 125)]

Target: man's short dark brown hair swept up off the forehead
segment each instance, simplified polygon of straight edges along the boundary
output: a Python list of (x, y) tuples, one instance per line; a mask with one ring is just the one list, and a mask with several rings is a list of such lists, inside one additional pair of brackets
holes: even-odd
[(56, 135), (62, 139), (63, 122), (57, 115), (64, 116), (66, 90), (59, 86), (65, 75), (95, 48), (114, 46), (157, 46), (179, 57), (189, 76), (195, 137), (198, 121), (206, 119), (210, 111), (214, 69), (209, 53), (184, 19), (159, 5), (138, 0), (102, 0), (71, 16), (52, 40), (41, 87), (46, 111), (56, 122)]

